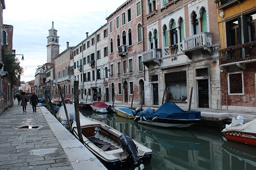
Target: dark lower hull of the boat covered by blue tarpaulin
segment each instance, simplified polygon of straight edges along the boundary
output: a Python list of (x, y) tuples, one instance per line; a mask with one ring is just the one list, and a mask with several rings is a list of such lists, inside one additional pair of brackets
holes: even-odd
[(136, 116), (134, 119), (135, 122), (141, 123), (141, 124), (148, 124), (152, 126), (160, 126), (164, 128), (187, 128), (195, 122), (198, 122), (199, 119), (196, 120), (172, 120), (172, 119), (166, 119), (166, 118), (155, 118), (153, 120), (146, 120), (146, 118), (143, 118), (141, 116)]

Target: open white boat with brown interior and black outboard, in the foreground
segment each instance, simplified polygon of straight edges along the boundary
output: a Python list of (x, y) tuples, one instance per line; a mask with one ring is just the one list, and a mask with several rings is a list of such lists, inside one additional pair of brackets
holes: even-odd
[[(106, 168), (133, 166), (135, 169), (143, 169), (143, 165), (150, 163), (153, 151), (118, 130), (91, 118), (82, 118), (80, 125), (84, 145)], [(74, 122), (73, 133), (78, 138), (76, 126)]]

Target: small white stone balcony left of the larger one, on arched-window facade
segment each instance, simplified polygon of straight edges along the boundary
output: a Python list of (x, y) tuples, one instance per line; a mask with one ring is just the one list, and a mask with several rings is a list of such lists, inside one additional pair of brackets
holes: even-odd
[(142, 53), (142, 62), (144, 65), (149, 67), (150, 62), (155, 62), (158, 65), (161, 65), (161, 49), (154, 48)]

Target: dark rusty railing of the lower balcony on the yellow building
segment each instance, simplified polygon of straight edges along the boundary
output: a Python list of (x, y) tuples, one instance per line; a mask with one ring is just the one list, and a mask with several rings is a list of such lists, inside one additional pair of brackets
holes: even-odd
[(220, 50), (220, 65), (251, 59), (256, 59), (256, 41)]

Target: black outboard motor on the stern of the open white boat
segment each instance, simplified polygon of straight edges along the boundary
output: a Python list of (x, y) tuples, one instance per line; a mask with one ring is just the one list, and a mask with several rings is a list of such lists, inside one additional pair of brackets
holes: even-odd
[(119, 137), (119, 141), (123, 148), (123, 151), (125, 151), (125, 153), (128, 153), (129, 157), (131, 157), (131, 159), (133, 160), (133, 165), (136, 167), (136, 169), (143, 169), (142, 167), (144, 167), (144, 165), (139, 160), (139, 157), (137, 155), (137, 146), (133, 142), (133, 140), (129, 136), (122, 134)]

